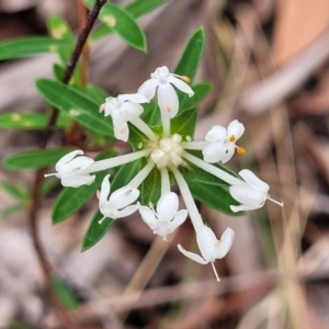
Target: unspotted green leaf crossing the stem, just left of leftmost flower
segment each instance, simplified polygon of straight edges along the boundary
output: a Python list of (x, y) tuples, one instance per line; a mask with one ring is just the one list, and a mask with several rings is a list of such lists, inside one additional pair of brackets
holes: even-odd
[(19, 152), (4, 158), (3, 164), (10, 170), (44, 168), (54, 166), (70, 151), (72, 151), (72, 148), (50, 148)]

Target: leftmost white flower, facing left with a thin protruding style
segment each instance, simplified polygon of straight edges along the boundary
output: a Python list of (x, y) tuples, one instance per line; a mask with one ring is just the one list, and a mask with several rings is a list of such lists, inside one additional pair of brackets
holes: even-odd
[[(76, 156), (81, 156), (77, 157)], [(88, 173), (88, 167), (94, 161), (91, 158), (82, 156), (82, 150), (76, 150), (64, 156), (55, 166), (57, 173), (47, 173), (45, 177), (55, 175), (60, 179), (63, 186), (79, 188), (90, 185), (95, 175)]]

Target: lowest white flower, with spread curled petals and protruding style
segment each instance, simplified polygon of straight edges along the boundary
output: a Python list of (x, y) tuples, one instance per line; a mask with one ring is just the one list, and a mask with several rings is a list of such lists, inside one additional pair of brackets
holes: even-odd
[(220, 237), (220, 240), (217, 240), (214, 231), (209, 227), (203, 225), (196, 231), (196, 242), (202, 257), (198, 256), (197, 253), (186, 251), (181, 245), (178, 245), (178, 249), (184, 256), (186, 256), (188, 258), (192, 259), (193, 261), (200, 264), (207, 264), (212, 262), (216, 279), (217, 281), (219, 281), (216, 269), (214, 266), (214, 262), (216, 259), (222, 259), (227, 254), (227, 252), (229, 251), (232, 245), (234, 237), (235, 237), (234, 230), (228, 227), (226, 228), (223, 236)]

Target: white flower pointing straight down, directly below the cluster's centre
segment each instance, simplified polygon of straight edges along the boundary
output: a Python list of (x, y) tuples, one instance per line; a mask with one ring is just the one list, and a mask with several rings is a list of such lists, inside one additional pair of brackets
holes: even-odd
[(179, 198), (175, 193), (168, 192), (163, 194), (158, 204), (157, 212), (152, 205), (150, 207), (140, 206), (139, 213), (141, 219), (152, 229), (154, 234), (167, 239), (167, 236), (173, 232), (188, 217), (186, 209), (178, 209)]

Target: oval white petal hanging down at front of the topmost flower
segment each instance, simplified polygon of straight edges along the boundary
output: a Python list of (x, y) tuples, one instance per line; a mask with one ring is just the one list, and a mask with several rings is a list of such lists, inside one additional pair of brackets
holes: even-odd
[(160, 84), (158, 89), (158, 103), (163, 115), (174, 117), (179, 110), (179, 100), (175, 90), (169, 83)]

